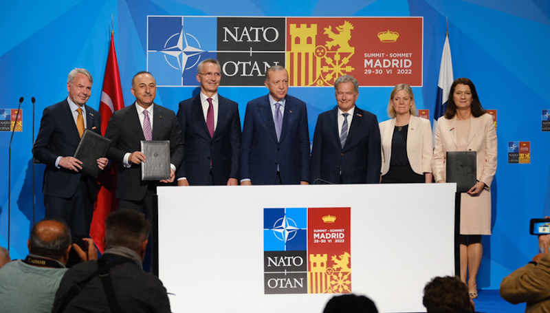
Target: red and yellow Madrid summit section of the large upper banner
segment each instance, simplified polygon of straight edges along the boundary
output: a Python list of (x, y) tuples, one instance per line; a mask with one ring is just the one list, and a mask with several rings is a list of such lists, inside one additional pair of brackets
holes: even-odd
[(291, 86), (422, 85), (421, 17), (287, 18)]

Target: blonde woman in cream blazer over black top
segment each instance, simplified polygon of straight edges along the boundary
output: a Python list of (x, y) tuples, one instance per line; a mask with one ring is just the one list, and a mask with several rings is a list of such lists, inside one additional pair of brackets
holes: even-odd
[(380, 123), (382, 183), (432, 182), (432, 127), (419, 118), (407, 84), (393, 88), (388, 103), (391, 120)]

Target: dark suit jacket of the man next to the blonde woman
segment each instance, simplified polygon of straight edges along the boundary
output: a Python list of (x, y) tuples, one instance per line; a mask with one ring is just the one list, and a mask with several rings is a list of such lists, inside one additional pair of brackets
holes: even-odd
[(318, 178), (337, 184), (377, 184), (380, 166), (380, 129), (374, 114), (355, 107), (343, 148), (338, 130), (338, 107), (319, 114), (311, 152), (312, 184)]

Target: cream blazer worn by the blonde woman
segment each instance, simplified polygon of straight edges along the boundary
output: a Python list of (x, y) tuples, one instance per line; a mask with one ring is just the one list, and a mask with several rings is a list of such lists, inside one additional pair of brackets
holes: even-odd
[[(379, 124), (380, 136), (382, 138), (382, 175), (386, 175), (390, 169), (391, 140), (395, 118), (385, 120)], [(432, 126), (430, 120), (410, 116), (407, 131), (407, 158), (412, 171), (423, 175), (431, 173), (432, 151), (433, 151)]]

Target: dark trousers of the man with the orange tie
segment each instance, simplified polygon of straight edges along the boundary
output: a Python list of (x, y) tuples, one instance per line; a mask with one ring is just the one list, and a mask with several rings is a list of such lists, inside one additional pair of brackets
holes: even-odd
[(84, 180), (78, 181), (76, 193), (70, 198), (44, 195), (44, 206), (45, 218), (61, 219), (71, 229), (72, 237), (89, 237), (94, 200)]

